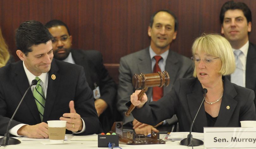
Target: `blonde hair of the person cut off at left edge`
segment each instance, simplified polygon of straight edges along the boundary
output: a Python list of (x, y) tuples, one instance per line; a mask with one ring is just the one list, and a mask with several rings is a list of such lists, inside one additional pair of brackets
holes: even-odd
[(0, 68), (5, 66), (9, 58), (10, 58), (10, 54), (8, 51), (8, 46), (6, 45), (3, 39), (2, 31), (0, 28)]

